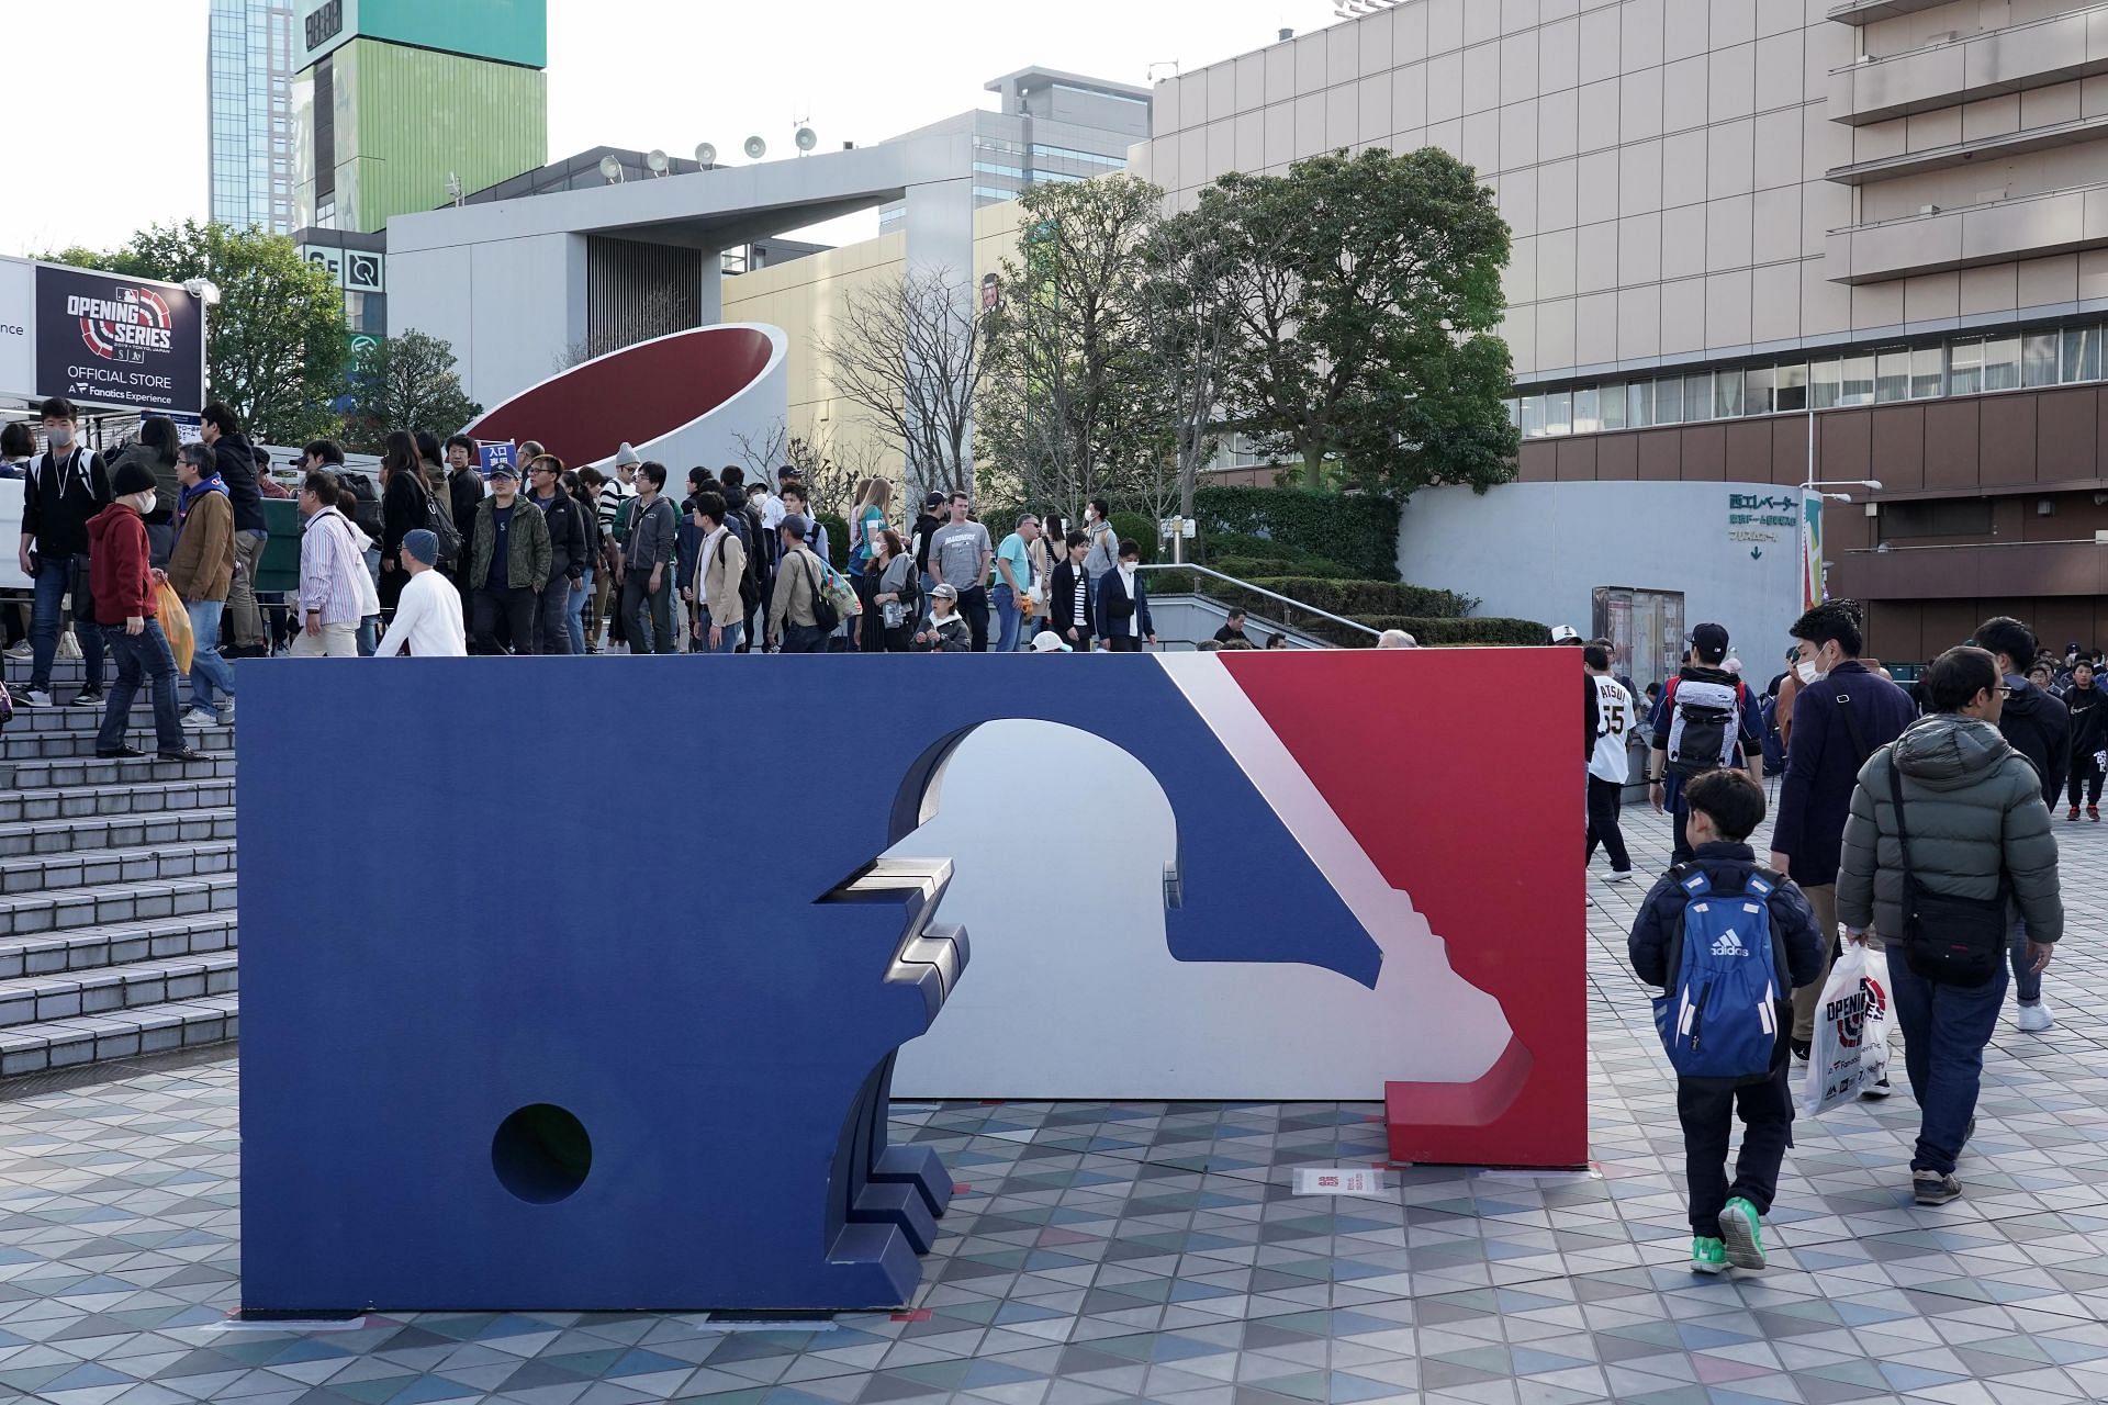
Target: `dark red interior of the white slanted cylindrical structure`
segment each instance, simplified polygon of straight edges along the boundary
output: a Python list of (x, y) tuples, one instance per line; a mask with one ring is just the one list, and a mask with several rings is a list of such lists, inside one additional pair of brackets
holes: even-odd
[(765, 333), (698, 326), (573, 367), (489, 411), (468, 434), (531, 438), (565, 463), (592, 463), (708, 415), (767, 364)]

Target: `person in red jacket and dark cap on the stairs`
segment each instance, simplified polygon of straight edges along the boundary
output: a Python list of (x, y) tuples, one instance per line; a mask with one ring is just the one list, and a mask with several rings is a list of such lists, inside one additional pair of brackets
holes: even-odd
[(95, 733), (95, 754), (103, 760), (145, 756), (124, 741), (139, 680), (154, 680), (154, 739), (162, 760), (204, 760), (204, 752), (183, 741), (183, 720), (175, 704), (175, 655), (160, 632), (154, 583), (167, 579), (148, 556), (141, 512), (154, 510), (154, 474), (126, 459), (110, 484), (114, 501), (89, 518), (89, 583), (95, 594), (95, 624), (118, 659), (110, 685), (103, 727)]

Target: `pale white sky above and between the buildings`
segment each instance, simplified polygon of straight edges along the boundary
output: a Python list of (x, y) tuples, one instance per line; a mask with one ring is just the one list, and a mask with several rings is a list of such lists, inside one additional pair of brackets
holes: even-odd
[[(447, 0), (430, 0), (445, 4)], [(299, 0), (297, 8), (308, 8)], [(1334, 23), (1334, 0), (548, 0), (548, 154), (592, 145), (721, 152), (799, 120), (839, 150), (993, 107), (980, 84), (1027, 65), (1147, 82)], [(209, 209), (207, 0), (95, 0), (129, 78), (93, 72), (80, 6), (0, 0), (0, 253), (105, 249)], [(152, 80), (152, 88), (148, 82)], [(877, 232), (835, 221), (824, 242)]]

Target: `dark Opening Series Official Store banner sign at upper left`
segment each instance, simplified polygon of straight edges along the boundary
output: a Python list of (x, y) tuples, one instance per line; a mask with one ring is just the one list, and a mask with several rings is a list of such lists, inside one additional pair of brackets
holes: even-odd
[(36, 394), (89, 407), (196, 411), (204, 322), (181, 289), (36, 265)]

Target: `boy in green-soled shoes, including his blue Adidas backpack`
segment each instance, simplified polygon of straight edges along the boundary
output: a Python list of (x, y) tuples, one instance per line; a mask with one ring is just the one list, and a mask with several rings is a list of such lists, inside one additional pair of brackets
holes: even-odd
[[(1764, 819), (1764, 788), (1748, 771), (1693, 777), (1684, 805), (1695, 857), (1646, 895), (1632, 925), (1632, 969), (1663, 988), (1655, 1024), (1676, 1068), (1691, 1272), (1762, 1268), (1758, 1220), (1794, 1142), (1792, 992), (1821, 977), (1823, 942), (1809, 899), (1748, 845)], [(1729, 1184), (1737, 1112), (1741, 1156)]]

